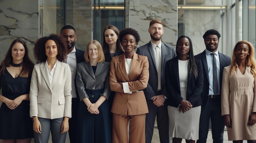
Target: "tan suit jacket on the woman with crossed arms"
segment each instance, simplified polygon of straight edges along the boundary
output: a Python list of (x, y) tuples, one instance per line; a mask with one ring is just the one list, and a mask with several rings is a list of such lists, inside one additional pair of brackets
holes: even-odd
[[(122, 115), (138, 115), (148, 113), (148, 106), (143, 89), (147, 87), (149, 78), (148, 58), (134, 53), (129, 77), (126, 73), (125, 55), (112, 58), (110, 65), (110, 89), (115, 91), (111, 112)], [(132, 94), (124, 93), (121, 83), (128, 82)], [(141, 90), (136, 92), (135, 90)]]

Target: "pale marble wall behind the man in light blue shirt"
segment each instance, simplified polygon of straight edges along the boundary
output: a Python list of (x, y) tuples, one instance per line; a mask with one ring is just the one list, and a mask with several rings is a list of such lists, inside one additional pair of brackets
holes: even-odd
[[(204, 0), (202, 6), (219, 6), (221, 0)], [(220, 10), (184, 10), (184, 35), (189, 36), (193, 43), (194, 55), (201, 53), (205, 49), (203, 35), (209, 29), (216, 29), (220, 32), (220, 42), (218, 50), (222, 52), (222, 16)]]

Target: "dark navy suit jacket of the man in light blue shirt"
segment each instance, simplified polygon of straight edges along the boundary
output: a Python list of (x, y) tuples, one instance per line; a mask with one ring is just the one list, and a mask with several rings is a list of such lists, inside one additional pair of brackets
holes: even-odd
[[(202, 53), (200, 53), (198, 55), (195, 55), (195, 58), (201, 60), (202, 65), (203, 65), (203, 71), (204, 71), (204, 86), (203, 86), (203, 92), (202, 92), (202, 95), (201, 95), (202, 110), (204, 109), (204, 107), (207, 104), (208, 94), (209, 94), (209, 74), (208, 74), (208, 65), (207, 65), (207, 59), (206, 59), (205, 54), (206, 53), (205, 53), (205, 50), (204, 50)], [(223, 69), (225, 68), (225, 66), (230, 65), (231, 59), (227, 55), (224, 55), (220, 52), (219, 52), (219, 58), (220, 58), (220, 92), (221, 92)], [(221, 96), (221, 94), (220, 94), (220, 96)], [(219, 98), (219, 100), (220, 99), (221, 99), (221, 97)]]

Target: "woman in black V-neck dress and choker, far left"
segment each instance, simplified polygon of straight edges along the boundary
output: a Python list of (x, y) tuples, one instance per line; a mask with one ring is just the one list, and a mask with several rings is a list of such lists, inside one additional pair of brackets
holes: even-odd
[(30, 143), (29, 86), (34, 63), (23, 40), (13, 40), (0, 66), (0, 139), (2, 143)]

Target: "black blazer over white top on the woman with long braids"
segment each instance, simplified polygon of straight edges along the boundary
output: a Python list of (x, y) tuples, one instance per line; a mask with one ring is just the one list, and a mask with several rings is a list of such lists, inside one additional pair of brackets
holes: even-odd
[[(188, 85), (186, 91), (186, 100), (193, 107), (202, 105), (201, 93), (203, 88), (203, 67), (199, 59), (195, 59), (198, 67), (198, 77), (195, 78), (193, 72), (188, 73)], [(165, 84), (167, 91), (167, 103), (169, 106), (178, 107), (182, 97), (180, 95), (180, 78), (178, 57), (168, 60), (165, 67)]]

